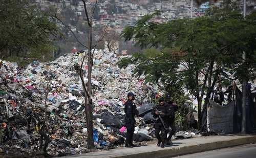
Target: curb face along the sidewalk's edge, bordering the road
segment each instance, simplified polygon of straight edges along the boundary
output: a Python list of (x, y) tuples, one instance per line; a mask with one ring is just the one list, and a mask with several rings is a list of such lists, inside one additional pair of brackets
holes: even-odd
[(139, 158), (149, 158), (149, 157), (165, 158), (166, 157), (167, 158), (167, 157), (173, 157), (178, 155), (185, 155), (185, 154), (191, 154), (196, 152), (233, 147), (233, 146), (238, 146), (243, 144), (250, 144), (255, 142), (256, 142), (256, 136), (251, 136), (247, 138), (238, 138), (238, 139), (227, 140), (227, 141), (202, 143), (198, 145), (169, 148), (169, 149), (163, 149), (163, 150), (152, 151), (152, 152), (144, 152), (144, 153), (137, 153), (132, 155), (122, 155), (122, 156), (113, 156), (113, 157), (115, 158), (138, 158), (138, 157)]

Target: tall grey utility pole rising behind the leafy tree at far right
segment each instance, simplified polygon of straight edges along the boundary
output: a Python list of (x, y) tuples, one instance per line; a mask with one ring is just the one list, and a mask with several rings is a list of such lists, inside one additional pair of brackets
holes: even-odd
[[(246, 15), (246, 0), (244, 1), (244, 10), (243, 10), (243, 15), (245, 18)], [(245, 52), (243, 52), (243, 62), (245, 62), (246, 56), (245, 56)], [(246, 79), (243, 78), (242, 79), (242, 94), (243, 94), (243, 98), (242, 98), (242, 133), (246, 133), (246, 104), (245, 104), (245, 100), (246, 100)]]

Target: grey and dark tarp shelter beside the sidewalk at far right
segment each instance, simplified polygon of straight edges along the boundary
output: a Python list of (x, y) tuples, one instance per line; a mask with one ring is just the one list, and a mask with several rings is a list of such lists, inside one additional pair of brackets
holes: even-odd
[[(236, 99), (227, 105), (220, 106), (209, 99), (204, 105), (201, 116), (201, 129), (204, 132), (239, 133), (242, 126), (242, 93), (238, 87), (235, 91)], [(247, 86), (246, 90), (246, 132), (256, 129), (255, 103), (253, 94)]]

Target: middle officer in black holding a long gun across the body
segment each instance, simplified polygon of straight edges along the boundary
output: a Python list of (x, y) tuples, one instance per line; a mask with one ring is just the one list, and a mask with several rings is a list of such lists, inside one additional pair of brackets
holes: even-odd
[[(164, 102), (164, 98), (159, 99), (159, 105), (152, 111), (152, 115), (156, 118), (155, 122), (155, 136), (158, 139), (157, 146), (164, 148), (164, 143), (166, 141), (166, 136), (168, 132), (168, 120), (170, 113), (170, 108), (167, 103)], [(160, 136), (161, 131), (161, 136)]]

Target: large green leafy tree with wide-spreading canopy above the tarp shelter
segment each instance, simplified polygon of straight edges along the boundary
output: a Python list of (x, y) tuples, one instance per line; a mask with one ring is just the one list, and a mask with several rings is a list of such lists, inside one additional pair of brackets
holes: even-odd
[[(134, 53), (123, 58), (119, 66), (136, 64), (134, 73), (144, 75), (146, 82), (187, 88), (198, 100), (199, 122), (202, 100), (208, 101), (217, 82), (255, 79), (255, 14), (244, 20), (228, 5), (195, 19), (157, 23), (152, 20), (157, 16), (161, 12), (145, 15), (135, 26), (126, 27), (122, 36), (134, 39), (142, 48), (155, 47), (158, 51)], [(243, 51), (250, 52), (246, 64), (241, 59)], [(233, 78), (228, 73), (234, 74)]]

